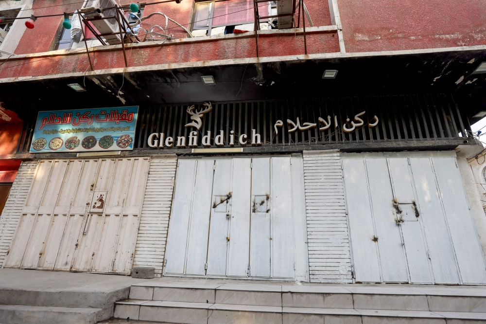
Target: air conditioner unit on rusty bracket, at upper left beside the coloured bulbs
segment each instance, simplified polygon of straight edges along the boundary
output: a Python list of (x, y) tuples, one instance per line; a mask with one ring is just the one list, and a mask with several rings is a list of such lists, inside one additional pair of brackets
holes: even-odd
[[(116, 35), (103, 36), (110, 45), (121, 44), (120, 29), (118, 21), (115, 18), (117, 17), (116, 9), (104, 10), (104, 8), (113, 8), (116, 5), (117, 3), (113, 0), (87, 0), (81, 9), (81, 12), (84, 12), (86, 18), (113, 17), (90, 21), (100, 34), (118, 33)], [(120, 12), (120, 14), (123, 15), (123, 12)]]

